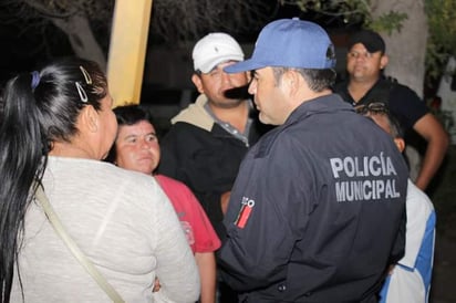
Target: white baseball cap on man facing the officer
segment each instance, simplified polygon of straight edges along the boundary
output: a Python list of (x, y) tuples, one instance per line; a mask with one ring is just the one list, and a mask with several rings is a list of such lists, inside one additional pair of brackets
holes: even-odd
[(191, 56), (195, 71), (206, 74), (222, 62), (242, 61), (243, 52), (231, 35), (216, 32), (200, 39), (195, 44)]

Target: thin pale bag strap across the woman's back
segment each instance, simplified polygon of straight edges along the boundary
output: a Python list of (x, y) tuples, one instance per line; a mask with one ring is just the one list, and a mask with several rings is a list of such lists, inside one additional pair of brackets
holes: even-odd
[(122, 296), (114, 290), (114, 288), (110, 284), (110, 282), (106, 281), (106, 279), (100, 273), (100, 271), (87, 259), (87, 257), (85, 257), (82, 250), (77, 247), (77, 244), (70, 237), (70, 234), (68, 234), (65, 228), (63, 227), (59, 217), (54, 212), (41, 186), (39, 186), (37, 189), (35, 198), (43, 207), (44, 212), (48, 216), (48, 219), (51, 222), (52, 227), (54, 228), (55, 232), (63, 240), (63, 242), (65, 242), (66, 247), (70, 249), (73, 255), (77, 259), (81, 265), (83, 265), (83, 268), (90, 273), (90, 275), (92, 275), (92, 278), (96, 281), (100, 288), (102, 288), (102, 290), (111, 297), (113, 302), (124, 303), (125, 301), (122, 299)]

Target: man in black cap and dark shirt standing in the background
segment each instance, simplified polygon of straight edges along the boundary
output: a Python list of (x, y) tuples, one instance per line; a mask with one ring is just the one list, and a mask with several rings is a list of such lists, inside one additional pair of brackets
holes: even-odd
[[(350, 38), (348, 49), (349, 79), (338, 83), (334, 92), (353, 106), (371, 102), (385, 103), (405, 132), (413, 129), (426, 140), (427, 147), (418, 165), (417, 176), (412, 176), (416, 186), (425, 190), (448, 147), (445, 129), (415, 92), (383, 75), (388, 56), (385, 53), (385, 42), (379, 33), (371, 30), (360, 31)], [(411, 163), (411, 168), (413, 167), (414, 164)]]

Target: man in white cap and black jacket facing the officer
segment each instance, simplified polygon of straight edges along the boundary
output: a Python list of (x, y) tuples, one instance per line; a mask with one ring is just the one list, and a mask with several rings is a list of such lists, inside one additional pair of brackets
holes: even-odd
[(224, 212), (240, 161), (265, 126), (257, 115), (250, 117), (253, 108), (247, 93), (248, 74), (224, 71), (243, 60), (232, 36), (221, 32), (207, 34), (196, 43), (193, 60), (191, 81), (200, 95), (172, 119), (162, 140), (158, 171), (194, 191), (222, 239)]

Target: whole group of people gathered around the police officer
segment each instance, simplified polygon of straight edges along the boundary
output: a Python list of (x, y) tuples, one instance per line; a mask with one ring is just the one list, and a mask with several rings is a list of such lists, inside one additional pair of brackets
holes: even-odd
[[(0, 302), (427, 302), (448, 137), (383, 75), (382, 36), (351, 36), (340, 83), (298, 18), (249, 59), (222, 32), (191, 55), (199, 96), (163, 138), (89, 60), (7, 83)], [(413, 180), (407, 129), (427, 142)]]

